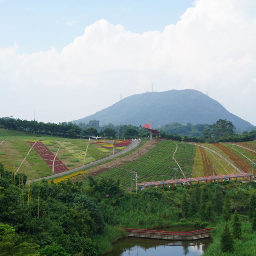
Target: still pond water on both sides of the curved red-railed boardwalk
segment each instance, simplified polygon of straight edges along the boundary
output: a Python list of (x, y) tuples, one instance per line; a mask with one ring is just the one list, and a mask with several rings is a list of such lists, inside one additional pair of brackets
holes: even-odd
[[(192, 231), (200, 228), (163, 228), (164, 231)], [(106, 256), (200, 256), (212, 242), (211, 238), (196, 241), (170, 241), (128, 237), (113, 244)]]

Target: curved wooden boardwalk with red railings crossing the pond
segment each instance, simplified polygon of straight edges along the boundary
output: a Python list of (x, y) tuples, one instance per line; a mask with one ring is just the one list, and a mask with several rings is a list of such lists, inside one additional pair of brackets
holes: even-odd
[(124, 228), (128, 236), (164, 240), (198, 240), (202, 238), (208, 238), (210, 237), (213, 229), (214, 228), (206, 228), (190, 232), (169, 232), (160, 230)]

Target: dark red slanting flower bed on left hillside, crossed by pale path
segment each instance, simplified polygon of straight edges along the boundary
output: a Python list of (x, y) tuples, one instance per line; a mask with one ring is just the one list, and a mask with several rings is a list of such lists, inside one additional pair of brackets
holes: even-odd
[[(28, 141), (28, 144), (30, 144), (30, 146), (33, 146), (34, 142)], [(48, 166), (50, 166), (50, 168), (52, 169), (54, 154), (40, 141), (36, 142), (33, 148), (36, 153), (41, 156), (44, 162), (46, 162), (46, 164), (48, 164)], [(60, 173), (67, 170), (68, 168), (66, 167), (66, 165), (63, 164), (58, 157), (56, 157), (54, 161), (54, 173)]]

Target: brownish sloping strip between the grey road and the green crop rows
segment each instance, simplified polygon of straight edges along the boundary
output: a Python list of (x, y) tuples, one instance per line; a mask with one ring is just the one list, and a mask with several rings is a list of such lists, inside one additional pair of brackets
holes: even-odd
[[(126, 164), (127, 162), (131, 162), (139, 158), (140, 156), (146, 154), (149, 150), (152, 149), (153, 146), (158, 144), (161, 140), (149, 140), (144, 145), (142, 145), (140, 148), (138, 148), (136, 151), (132, 152), (131, 154), (128, 154), (127, 156), (124, 156), (122, 158), (116, 158), (114, 161), (111, 161), (109, 163), (105, 163), (104, 165), (98, 165), (94, 168), (91, 168), (88, 170), (88, 173), (92, 175), (99, 175), (103, 172), (106, 172), (110, 169), (116, 168), (118, 166), (121, 166), (123, 164)], [(83, 175), (84, 178), (87, 178), (87, 174)], [(81, 180), (81, 177), (79, 177), (79, 180)], [(73, 178), (73, 180), (76, 180), (76, 177)]]

